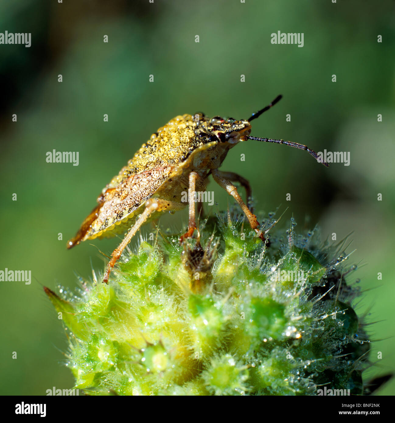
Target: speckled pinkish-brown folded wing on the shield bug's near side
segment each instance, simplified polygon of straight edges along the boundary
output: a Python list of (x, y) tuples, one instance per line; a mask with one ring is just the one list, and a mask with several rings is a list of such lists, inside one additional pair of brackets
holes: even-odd
[(154, 195), (175, 168), (158, 165), (151, 170), (130, 175), (117, 187), (108, 188), (99, 197), (101, 202), (82, 222), (77, 235), (68, 242), (67, 248), (86, 239), (102, 236), (103, 232), (110, 232), (115, 225), (133, 217), (133, 212)]

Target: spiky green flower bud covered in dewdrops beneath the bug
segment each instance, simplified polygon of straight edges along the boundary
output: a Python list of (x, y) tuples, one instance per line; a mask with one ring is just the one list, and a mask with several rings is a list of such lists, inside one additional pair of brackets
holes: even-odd
[[(272, 222), (266, 220), (265, 227)], [(214, 232), (214, 226), (218, 229)], [(200, 239), (141, 242), (109, 284), (45, 292), (70, 332), (75, 388), (94, 395), (362, 394), (369, 340), (345, 253), (275, 226), (270, 244), (235, 219)], [(158, 237), (160, 239), (160, 237)]]

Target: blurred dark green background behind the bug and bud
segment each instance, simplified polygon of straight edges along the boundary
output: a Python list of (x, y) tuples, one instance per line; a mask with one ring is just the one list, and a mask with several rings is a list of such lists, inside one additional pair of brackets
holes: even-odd
[[(367, 290), (357, 312), (380, 321), (368, 326), (376, 340), (370, 357), (378, 364), (365, 377), (392, 371), (393, 12), (390, 0), (0, 3), (0, 32), (32, 33), (30, 48), (0, 45), (0, 269), (30, 269), (33, 279), (0, 283), (1, 393), (72, 387), (61, 365), (66, 337), (42, 286), (73, 288), (75, 273), (90, 277), (91, 266), (104, 269), (98, 248), (110, 254), (117, 239), (70, 251), (66, 241), (137, 148), (178, 114), (248, 118), (280, 93), (283, 100), (253, 122), (252, 135), (350, 151), (350, 166), (326, 169), (304, 151), (250, 141), (230, 151), (222, 170), (251, 181), (257, 209), (288, 206), (283, 225), (293, 214), (296, 229), (318, 223), (323, 239), (353, 232), (349, 264), (365, 264), (352, 276)], [(304, 33), (304, 47), (272, 45), (270, 34), (278, 30)], [(53, 149), (79, 151), (79, 166), (47, 163)], [(213, 207), (226, 208), (228, 195), (213, 182), (208, 189), (219, 203)], [(161, 224), (180, 229), (181, 220), (186, 211)], [(394, 392), (395, 380), (379, 394)]]

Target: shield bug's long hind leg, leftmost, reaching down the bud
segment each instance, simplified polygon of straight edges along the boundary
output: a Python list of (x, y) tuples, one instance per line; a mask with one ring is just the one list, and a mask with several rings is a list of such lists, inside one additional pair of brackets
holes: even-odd
[(108, 277), (110, 276), (111, 270), (114, 267), (115, 263), (117, 262), (118, 258), (121, 257), (121, 254), (123, 250), (126, 248), (126, 245), (129, 244), (130, 240), (133, 238), (133, 236), (136, 234), (136, 232), (140, 229), (141, 225), (144, 224), (144, 222), (148, 219), (148, 217), (154, 213), (154, 211), (176, 211), (176, 210), (182, 210), (184, 209), (185, 204), (184, 203), (178, 203), (176, 201), (167, 201), (162, 200), (162, 198), (150, 198), (145, 202), (145, 209), (143, 213), (140, 214), (140, 216), (137, 217), (136, 222), (130, 228), (129, 232), (126, 233), (125, 238), (121, 242), (121, 244), (118, 245), (118, 248), (116, 248), (112, 254), (111, 254), (111, 260), (107, 264), (107, 270), (104, 274), (103, 282), (108, 283)]

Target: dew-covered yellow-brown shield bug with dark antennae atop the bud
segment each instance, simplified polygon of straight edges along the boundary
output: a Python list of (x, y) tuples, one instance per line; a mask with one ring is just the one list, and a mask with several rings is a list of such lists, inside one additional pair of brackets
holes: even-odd
[[(112, 252), (107, 265), (103, 282), (108, 283), (112, 268), (141, 225), (159, 217), (163, 211), (184, 209), (187, 206), (186, 202), (182, 202), (185, 192), (189, 192), (188, 230), (180, 241), (193, 235), (196, 229), (195, 192), (206, 191), (210, 173), (214, 181), (239, 203), (251, 228), (265, 241), (258, 220), (248, 206), (251, 196), (249, 182), (237, 173), (220, 171), (219, 166), (230, 148), (247, 140), (300, 148), (321, 161), (313, 150), (302, 144), (250, 137), (250, 122), (269, 110), (281, 97), (277, 96), (271, 104), (253, 113), (247, 120), (219, 116), (210, 119), (203, 113), (171, 119), (151, 135), (151, 139), (106, 185), (97, 198), (98, 205), (82, 222), (67, 248), (87, 239), (114, 236), (127, 231), (121, 244)], [(326, 162), (322, 163), (328, 166)], [(247, 205), (232, 182), (239, 182), (246, 190)]]

